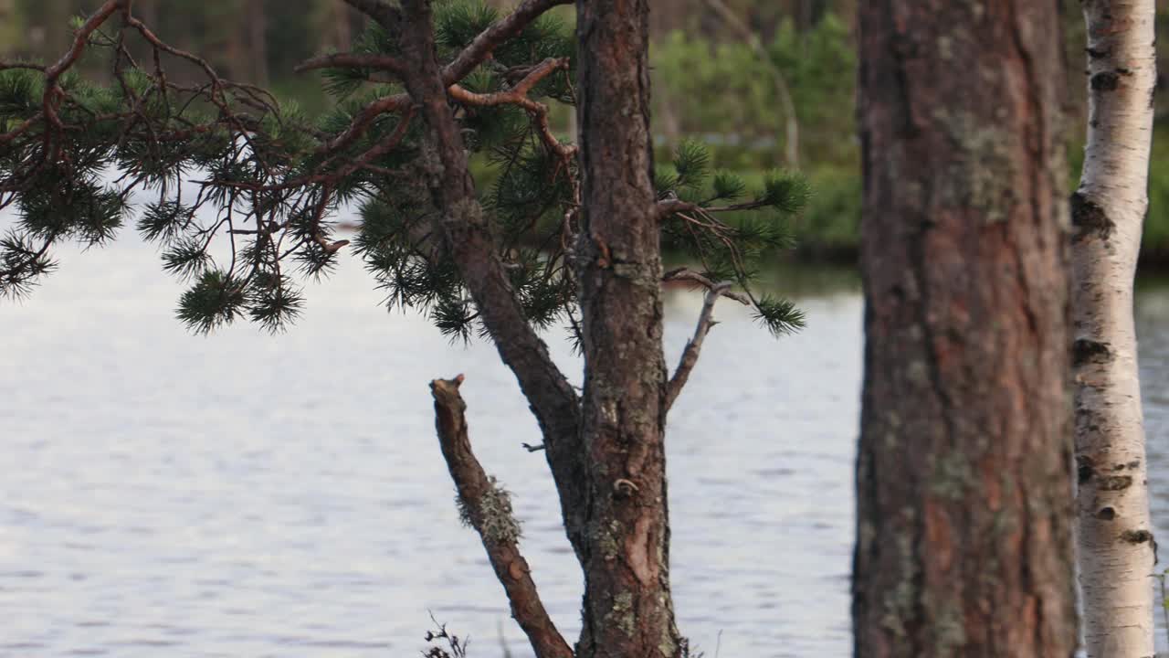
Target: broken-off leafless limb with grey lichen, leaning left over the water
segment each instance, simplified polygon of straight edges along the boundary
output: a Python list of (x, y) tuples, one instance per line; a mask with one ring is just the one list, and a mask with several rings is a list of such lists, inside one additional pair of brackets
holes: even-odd
[(548, 616), (519, 551), (519, 526), (511, 516), (511, 501), (471, 451), (466, 403), (458, 392), (463, 376), (430, 382), (435, 398), (435, 426), (447, 468), (458, 489), (463, 519), (479, 534), (496, 577), (511, 602), (512, 617), (527, 635), (538, 658), (572, 658), (563, 636)]

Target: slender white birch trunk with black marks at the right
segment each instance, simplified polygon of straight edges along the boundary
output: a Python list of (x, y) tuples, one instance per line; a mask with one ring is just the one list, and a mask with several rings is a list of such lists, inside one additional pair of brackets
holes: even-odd
[(1133, 321), (1156, 85), (1154, 0), (1082, 2), (1088, 137), (1072, 196), (1080, 583), (1093, 658), (1153, 656), (1155, 543)]

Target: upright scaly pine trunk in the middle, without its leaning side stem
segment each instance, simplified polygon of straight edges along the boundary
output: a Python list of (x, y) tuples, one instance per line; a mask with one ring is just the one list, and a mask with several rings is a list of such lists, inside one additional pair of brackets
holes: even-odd
[(580, 658), (673, 657), (648, 0), (580, 0), (577, 248), (589, 471)]

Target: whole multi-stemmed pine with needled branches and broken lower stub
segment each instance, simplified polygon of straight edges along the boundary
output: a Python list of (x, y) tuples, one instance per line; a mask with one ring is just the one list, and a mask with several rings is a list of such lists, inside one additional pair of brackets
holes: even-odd
[[(355, 252), (387, 307), (424, 313), (455, 340), (491, 340), (514, 372), (584, 575), (576, 654), (684, 653), (670, 602), (666, 413), (720, 297), (752, 307), (773, 334), (802, 325), (794, 304), (750, 283), (759, 258), (788, 244), (786, 218), (807, 185), (776, 172), (748, 191), (692, 142), (653, 166), (644, 0), (582, 1), (575, 33), (552, 11), (568, 0), (511, 13), (462, 0), (346, 2), (369, 19), (365, 30), (350, 50), (299, 67), (337, 100), (316, 118), (161, 41), (129, 0), (78, 20), (51, 64), (0, 63), (0, 210), (18, 215), (0, 240), (0, 294), (30, 293), (54, 269), (55, 245), (103, 245), (133, 221), (160, 246), (162, 269), (188, 282), (177, 314), (192, 330), (250, 321), (281, 331), (306, 303), (302, 282)], [(82, 59), (111, 82), (76, 74)], [(174, 82), (168, 67), (196, 71), (195, 82)], [(580, 145), (555, 133), (551, 104), (579, 105)], [(134, 207), (131, 192), (148, 201)], [(334, 232), (351, 205), (361, 218), (352, 244)], [(719, 219), (731, 211), (756, 213)], [(663, 245), (701, 266), (664, 272)], [(672, 376), (660, 344), (666, 280), (707, 292)], [(577, 341), (583, 393), (538, 333), (558, 325)], [(570, 656), (519, 553), (506, 493), (471, 453), (462, 382), (431, 386), (464, 518), (537, 654)]]

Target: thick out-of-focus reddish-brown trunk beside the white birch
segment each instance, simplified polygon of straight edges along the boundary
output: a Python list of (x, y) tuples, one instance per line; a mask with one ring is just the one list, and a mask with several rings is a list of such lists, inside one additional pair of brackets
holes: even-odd
[(1075, 649), (1058, 19), (859, 4), (862, 658)]

